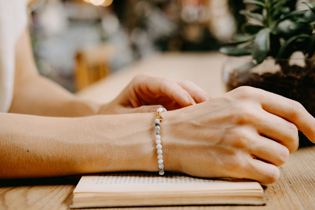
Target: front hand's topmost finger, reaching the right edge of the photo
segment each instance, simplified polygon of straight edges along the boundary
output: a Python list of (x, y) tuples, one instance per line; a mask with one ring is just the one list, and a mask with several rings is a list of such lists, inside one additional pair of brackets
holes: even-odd
[(261, 93), (261, 105), (264, 110), (294, 123), (315, 143), (315, 119), (299, 102), (266, 92)]

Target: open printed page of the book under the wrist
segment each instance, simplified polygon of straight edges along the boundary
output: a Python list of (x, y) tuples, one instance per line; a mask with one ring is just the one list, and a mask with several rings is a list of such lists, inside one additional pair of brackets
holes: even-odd
[(159, 176), (153, 173), (106, 173), (82, 176), (74, 193), (157, 192), (201, 190), (262, 190), (254, 181), (203, 179), (182, 174)]

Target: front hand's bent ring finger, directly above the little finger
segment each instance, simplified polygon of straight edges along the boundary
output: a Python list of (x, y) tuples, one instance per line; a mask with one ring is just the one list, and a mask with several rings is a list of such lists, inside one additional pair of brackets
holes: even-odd
[(272, 163), (275, 166), (283, 165), (289, 158), (289, 150), (284, 145), (272, 139), (257, 135), (255, 144), (250, 147), (250, 153), (258, 159)]

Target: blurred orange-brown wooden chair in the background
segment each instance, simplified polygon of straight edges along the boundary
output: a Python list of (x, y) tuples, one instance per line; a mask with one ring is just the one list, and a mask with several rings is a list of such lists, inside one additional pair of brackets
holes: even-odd
[(115, 49), (106, 43), (77, 50), (74, 70), (76, 90), (109, 75), (109, 60), (114, 54)]

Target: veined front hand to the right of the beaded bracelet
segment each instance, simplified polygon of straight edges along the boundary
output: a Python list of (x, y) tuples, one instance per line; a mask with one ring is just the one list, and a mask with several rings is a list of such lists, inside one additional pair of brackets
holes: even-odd
[(163, 117), (165, 170), (199, 177), (270, 184), (298, 148), (298, 129), (315, 142), (315, 119), (300, 103), (251, 87)]

